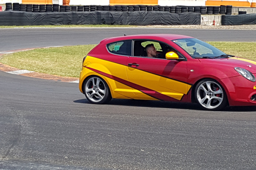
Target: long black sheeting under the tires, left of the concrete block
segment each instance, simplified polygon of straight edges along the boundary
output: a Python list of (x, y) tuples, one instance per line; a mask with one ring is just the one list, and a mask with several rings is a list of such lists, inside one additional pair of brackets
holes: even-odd
[(158, 11), (0, 12), (0, 25), (200, 25), (200, 13)]

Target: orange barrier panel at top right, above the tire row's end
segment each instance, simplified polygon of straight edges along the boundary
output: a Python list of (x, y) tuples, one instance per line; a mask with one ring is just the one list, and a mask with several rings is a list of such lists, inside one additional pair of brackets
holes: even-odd
[(246, 1), (206, 1), (205, 6), (232, 5), (236, 7), (251, 7), (250, 2)]

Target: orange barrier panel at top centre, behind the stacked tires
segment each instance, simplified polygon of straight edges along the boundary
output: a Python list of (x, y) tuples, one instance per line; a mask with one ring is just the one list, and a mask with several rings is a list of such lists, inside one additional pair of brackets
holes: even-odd
[(109, 0), (109, 5), (158, 5), (158, 0)]

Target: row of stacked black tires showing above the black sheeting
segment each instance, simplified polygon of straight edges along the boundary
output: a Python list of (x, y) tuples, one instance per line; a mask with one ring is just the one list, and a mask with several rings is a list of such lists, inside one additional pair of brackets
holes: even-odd
[[(22, 6), (22, 7), (21, 7)], [(30, 8), (33, 8), (32, 11)], [(25, 10), (26, 9), (26, 10)], [(28, 10), (27, 10), (28, 9)], [(116, 11), (116, 12), (137, 12), (137, 11), (159, 11), (170, 13), (201, 13), (209, 15), (230, 15), (232, 5), (221, 6), (151, 6), (151, 5), (59, 5), (59, 4), (19, 4), (6, 3), (6, 11), (26, 11), (26, 12), (93, 12), (93, 11)]]

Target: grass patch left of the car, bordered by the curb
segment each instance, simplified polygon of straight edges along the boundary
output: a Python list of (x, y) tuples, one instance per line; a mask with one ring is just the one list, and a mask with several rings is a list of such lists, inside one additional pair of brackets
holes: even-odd
[(93, 47), (95, 45), (34, 49), (6, 54), (0, 62), (19, 69), (79, 77), (83, 58)]

